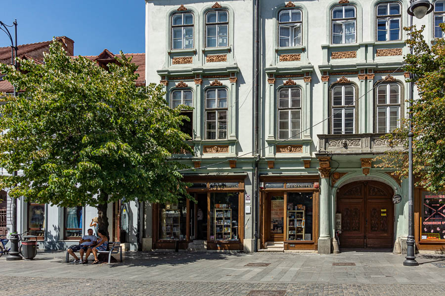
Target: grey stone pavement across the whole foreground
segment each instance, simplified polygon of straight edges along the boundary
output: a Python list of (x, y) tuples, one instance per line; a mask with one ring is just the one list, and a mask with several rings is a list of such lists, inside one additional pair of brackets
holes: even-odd
[[(445, 295), (445, 256), (422, 254), (417, 267), (388, 252), (151, 253), (127, 252), (124, 262), (64, 263), (65, 253), (33, 261), (0, 258), (1, 295)], [(333, 263), (354, 263), (334, 266)], [(248, 263), (267, 266), (246, 266)]]

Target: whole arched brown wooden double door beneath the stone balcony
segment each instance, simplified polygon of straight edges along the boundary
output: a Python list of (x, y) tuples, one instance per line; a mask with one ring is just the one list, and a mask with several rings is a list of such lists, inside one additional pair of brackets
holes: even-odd
[(394, 242), (393, 189), (376, 181), (358, 181), (337, 193), (342, 214), (342, 248), (392, 248)]

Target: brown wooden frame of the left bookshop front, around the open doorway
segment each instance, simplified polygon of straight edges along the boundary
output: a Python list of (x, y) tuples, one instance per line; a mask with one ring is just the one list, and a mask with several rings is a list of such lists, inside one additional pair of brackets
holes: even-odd
[[(227, 176), (184, 176), (184, 181), (189, 183), (205, 183), (206, 188), (187, 188), (188, 193), (207, 193), (207, 249), (208, 250), (243, 250), (244, 249), (244, 180), (247, 175), (227, 175)], [(211, 183), (238, 183), (237, 188), (211, 188)], [(233, 192), (238, 193), (238, 241), (211, 241), (210, 240), (210, 195), (212, 192)], [(190, 239), (190, 208), (194, 202), (186, 200), (186, 218), (185, 218), (185, 239), (178, 240), (178, 248), (186, 250)], [(160, 204), (153, 205), (153, 249), (175, 249), (177, 240), (159, 240), (159, 209)], [(196, 211), (194, 211), (196, 216)], [(196, 223), (195, 235), (196, 235)]]

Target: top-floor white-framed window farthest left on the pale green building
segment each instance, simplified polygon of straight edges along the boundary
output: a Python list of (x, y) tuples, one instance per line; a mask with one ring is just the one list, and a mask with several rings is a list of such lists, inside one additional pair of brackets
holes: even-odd
[(192, 13), (172, 15), (172, 49), (193, 48), (193, 30)]

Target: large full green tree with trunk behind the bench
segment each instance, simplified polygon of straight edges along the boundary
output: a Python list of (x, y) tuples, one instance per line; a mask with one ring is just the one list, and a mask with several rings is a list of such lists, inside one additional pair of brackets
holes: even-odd
[[(137, 69), (122, 52), (109, 71), (84, 57), (69, 57), (53, 40), (45, 63), (20, 60), (20, 71), (0, 64), (21, 94), (3, 94), (0, 166), (17, 177), (0, 179), (9, 195), (61, 207), (97, 207), (108, 229), (107, 203), (176, 202), (187, 195), (169, 158), (191, 151), (179, 130), (179, 110), (161, 86), (136, 87)], [(184, 106), (183, 109), (186, 109)]]

